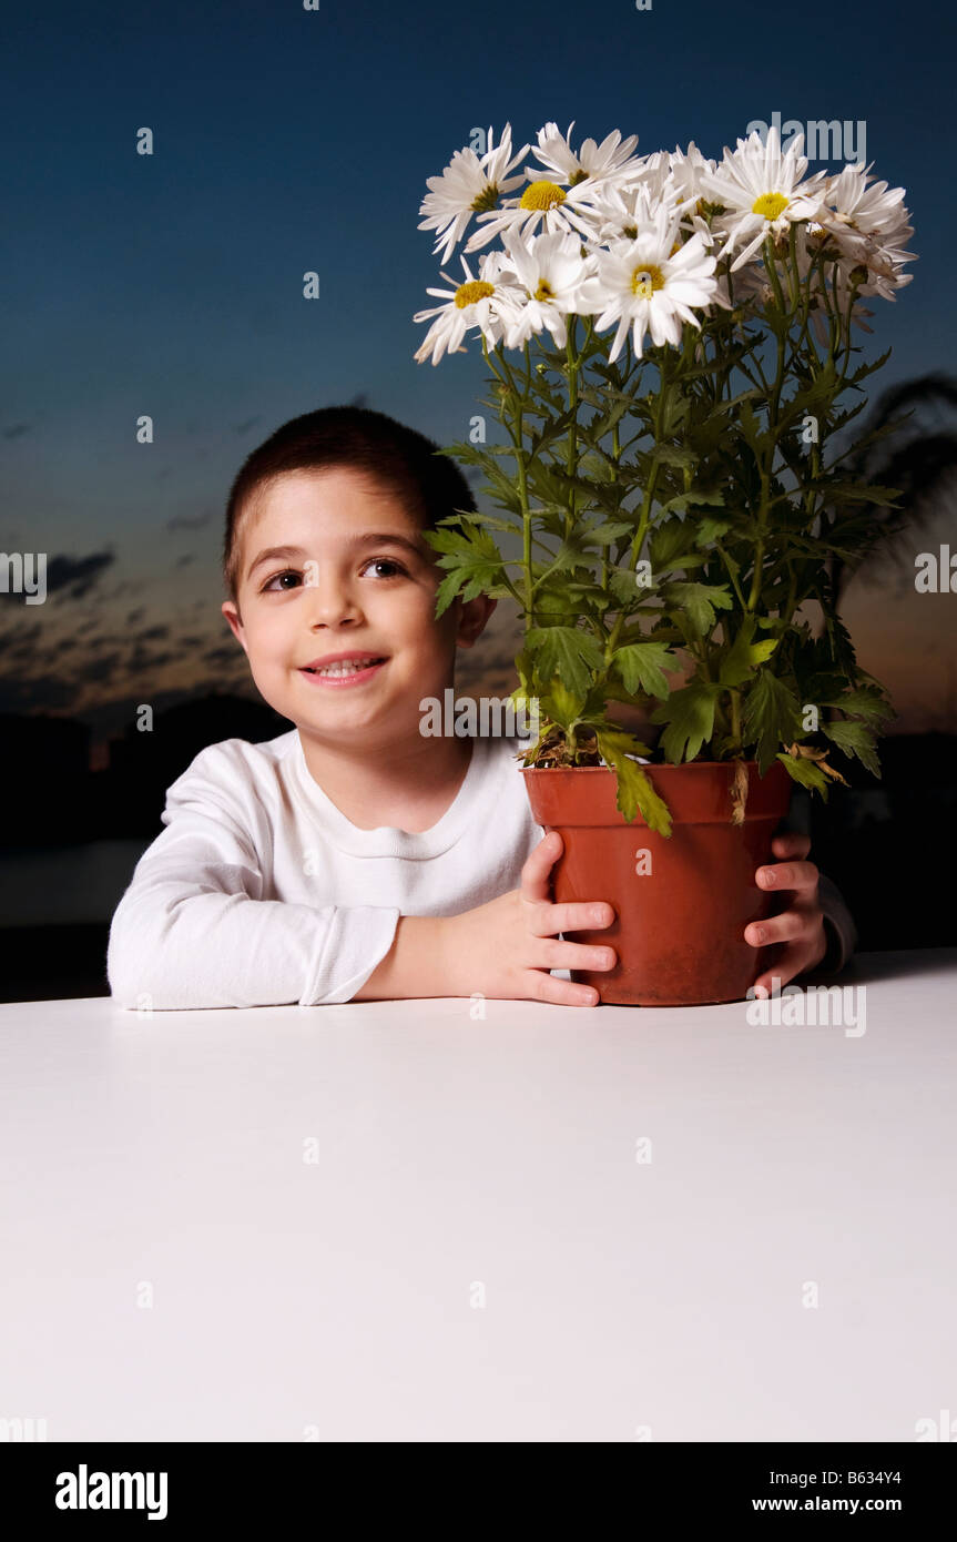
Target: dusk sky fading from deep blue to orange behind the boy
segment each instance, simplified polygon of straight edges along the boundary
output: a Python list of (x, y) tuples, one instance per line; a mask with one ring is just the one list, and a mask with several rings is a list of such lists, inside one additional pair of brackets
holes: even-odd
[[(775, 109), (863, 120), (920, 253), (897, 302), (869, 302), (868, 348), (894, 348), (877, 379), (952, 369), (955, 39), (929, 0), (54, 0), (3, 34), (0, 549), (59, 566), (46, 604), (0, 595), (0, 709), (103, 734), (137, 702), (248, 682), (219, 614), (222, 512), (287, 418), (362, 393), (439, 443), (467, 433), (481, 348), (416, 364), (411, 316), (439, 273), (425, 179), (475, 126), (512, 122), (521, 145), (575, 119), (575, 143), (620, 128), (641, 153), (720, 156)], [(952, 691), (957, 595), (911, 591), (858, 580), (848, 620), (902, 726), (928, 726)]]

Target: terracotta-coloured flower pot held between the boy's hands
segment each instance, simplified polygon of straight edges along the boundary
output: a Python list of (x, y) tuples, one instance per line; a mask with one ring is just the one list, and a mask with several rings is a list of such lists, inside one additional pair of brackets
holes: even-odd
[(613, 970), (573, 970), (607, 1005), (687, 1007), (741, 1001), (781, 944), (755, 948), (744, 927), (787, 907), (760, 890), (755, 870), (777, 860), (771, 837), (794, 786), (775, 760), (764, 777), (747, 762), (744, 823), (730, 823), (734, 765), (643, 766), (672, 814), (670, 837), (615, 805), (607, 766), (522, 771), (536, 823), (558, 830), (564, 853), (552, 870), (553, 899), (607, 901), (610, 927), (566, 933), (572, 942), (610, 944)]

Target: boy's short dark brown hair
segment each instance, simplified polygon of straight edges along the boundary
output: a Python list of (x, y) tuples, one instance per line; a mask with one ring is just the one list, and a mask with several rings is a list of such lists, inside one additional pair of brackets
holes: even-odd
[(319, 407), (284, 423), (243, 461), (230, 490), (223, 538), (230, 600), (236, 604), (243, 515), (264, 486), (284, 472), (348, 466), (387, 487), (424, 530), (433, 530), (456, 509), (475, 510), (462, 472), (438, 449), (424, 433), (370, 407)]

